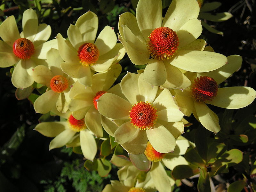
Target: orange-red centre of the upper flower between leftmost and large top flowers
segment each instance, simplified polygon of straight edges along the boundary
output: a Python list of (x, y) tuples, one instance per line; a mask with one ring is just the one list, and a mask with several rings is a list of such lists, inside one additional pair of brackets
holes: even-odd
[(99, 50), (95, 44), (85, 43), (82, 44), (78, 51), (78, 57), (80, 59), (80, 63), (84, 66), (92, 66), (99, 59)]

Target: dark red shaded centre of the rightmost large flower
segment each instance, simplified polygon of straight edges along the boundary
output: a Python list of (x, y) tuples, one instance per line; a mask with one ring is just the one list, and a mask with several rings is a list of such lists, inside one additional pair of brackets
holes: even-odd
[(192, 97), (198, 102), (212, 100), (217, 95), (218, 84), (212, 77), (200, 76), (194, 79)]

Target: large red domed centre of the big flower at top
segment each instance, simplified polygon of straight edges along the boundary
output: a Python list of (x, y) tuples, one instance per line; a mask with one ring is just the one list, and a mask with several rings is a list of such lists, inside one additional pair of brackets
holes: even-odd
[(148, 38), (149, 59), (168, 60), (179, 46), (177, 34), (168, 27), (154, 29)]

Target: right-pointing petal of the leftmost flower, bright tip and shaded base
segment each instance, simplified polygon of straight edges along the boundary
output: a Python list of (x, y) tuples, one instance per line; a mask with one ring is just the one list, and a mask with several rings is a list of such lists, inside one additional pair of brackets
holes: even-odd
[(46, 41), (43, 44), (40, 44), (39, 46), (37, 46), (35, 48), (33, 57), (36, 57), (38, 59), (46, 59), (46, 54), (51, 48), (58, 49), (57, 39)]

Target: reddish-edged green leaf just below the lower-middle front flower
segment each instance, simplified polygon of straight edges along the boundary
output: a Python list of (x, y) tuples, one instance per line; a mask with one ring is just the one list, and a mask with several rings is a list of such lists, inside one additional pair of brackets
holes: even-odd
[(129, 155), (132, 164), (141, 171), (149, 171), (151, 162), (144, 155), (144, 153), (140, 155)]

